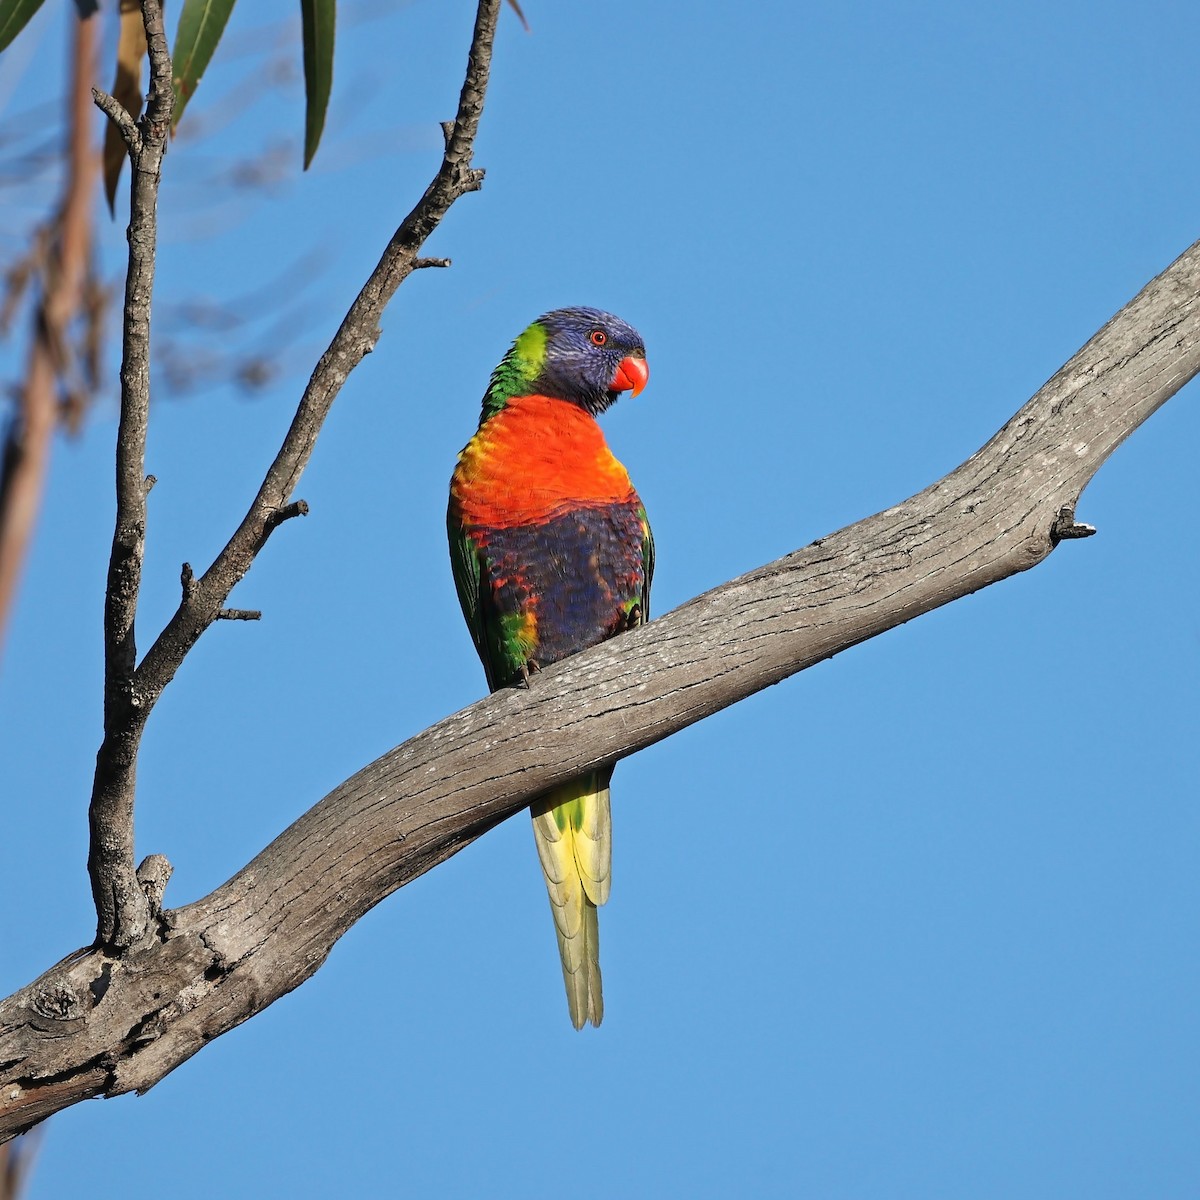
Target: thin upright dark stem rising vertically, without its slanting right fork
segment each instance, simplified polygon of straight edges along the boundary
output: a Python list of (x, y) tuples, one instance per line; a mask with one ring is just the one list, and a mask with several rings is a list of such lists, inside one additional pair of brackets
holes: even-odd
[[(174, 104), (161, 0), (143, 0), (150, 95), (136, 137), (124, 108), (103, 94), (96, 103), (116, 121), (131, 160), (130, 257), (121, 338), (121, 415), (116, 432), (116, 524), (104, 595), (104, 739), (96, 756), (88, 870), (96, 901), (96, 938), (125, 947), (150, 920), (133, 871), (133, 796), (138, 744), (149, 708), (137, 684), (136, 620), (145, 546), (146, 422), (150, 412), (150, 300), (157, 241), (162, 156)], [(115, 106), (115, 108), (114, 108)], [(118, 112), (120, 109), (120, 112)], [(186, 584), (185, 584), (186, 586)]]

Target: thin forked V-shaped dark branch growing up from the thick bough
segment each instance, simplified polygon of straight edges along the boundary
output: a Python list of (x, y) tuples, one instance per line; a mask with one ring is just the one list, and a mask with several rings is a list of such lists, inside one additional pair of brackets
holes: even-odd
[[(150, 44), (151, 96), (140, 122), (144, 143), (133, 156), (133, 214), (130, 239), (130, 280), (134, 278), (134, 226), (142, 214), (152, 234), (154, 197), (161, 144), (155, 151), (154, 188), (143, 180), (139, 162), (151, 154), (151, 130), (157, 130), (155, 78), (164, 70), (169, 86), (170, 62), (162, 37), (160, 0), (144, 0), (146, 38)], [(448, 122), (442, 164), (416, 206), (401, 222), (371, 277), (364, 284), (329, 348), (317, 364), (300, 398), (292, 426), (266, 478), (241, 524), (199, 577), (184, 581), (179, 608), (158, 635), (140, 665), (134, 666), (133, 616), (145, 536), (145, 492), (133, 493), (134, 474), (144, 470), (145, 408), (149, 395), (145, 347), (130, 341), (131, 323), (148, 331), (149, 283), (126, 292), (126, 355), (122, 365), (122, 418), (118, 434), (119, 485), (118, 534), (109, 570), (109, 619), (106, 620), (107, 659), (112, 662), (106, 682), (104, 740), (97, 756), (91, 804), (91, 853), (89, 870), (96, 900), (97, 942), (125, 949), (146, 935), (149, 908), (133, 874), (133, 798), (138, 746), (146, 719), (163, 689), (174, 678), (187, 652), (216, 620), (256, 619), (251, 610), (226, 608), (234, 586), (245, 576), (271, 533), (290, 517), (307, 512), (304, 500), (290, 502), (293, 490), (312, 455), (317, 436), (349, 373), (371, 353), (379, 338), (379, 319), (401, 283), (416, 269), (418, 251), (449, 211), (467, 192), (475, 191), (484, 173), (470, 167), (475, 134), (484, 109), (492, 43), (500, 0), (480, 0), (468, 55), (458, 110)], [(151, 11), (157, 14), (151, 30)], [(157, 38), (157, 41), (155, 40)], [(169, 118), (170, 106), (166, 107)], [(163, 131), (164, 132), (164, 131)], [(130, 144), (133, 145), (132, 139)], [(131, 150), (131, 155), (133, 151)], [(150, 161), (150, 160), (148, 160)], [(149, 168), (148, 168), (149, 172)], [(152, 238), (149, 242), (152, 252)], [(152, 254), (150, 262), (152, 280)], [(142, 323), (144, 306), (146, 324)], [(126, 374), (130, 403), (126, 416)], [(137, 385), (137, 386), (134, 386)], [(134, 466), (136, 460), (136, 466)], [(190, 569), (188, 569), (190, 572)]]

